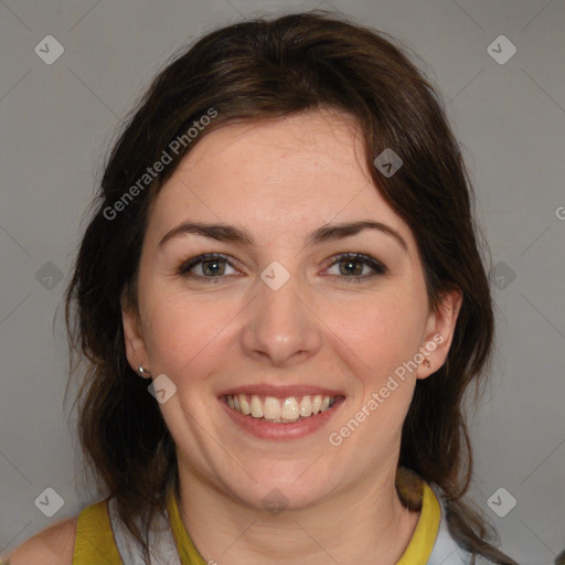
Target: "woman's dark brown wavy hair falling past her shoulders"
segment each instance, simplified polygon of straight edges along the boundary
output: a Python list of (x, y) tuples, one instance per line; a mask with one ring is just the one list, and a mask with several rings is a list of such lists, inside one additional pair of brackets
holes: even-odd
[[(384, 32), (331, 12), (258, 18), (206, 34), (154, 78), (117, 140), (66, 294), (75, 351), (71, 371), (77, 369), (76, 354), (89, 361), (77, 396), (87, 460), (109, 495), (117, 497), (121, 519), (148, 555), (147, 529), (178, 480), (173, 440), (147, 381), (127, 362), (121, 324), (120, 299), (137, 305), (150, 204), (180, 160), (214, 129), (322, 107), (344, 110), (359, 122), (375, 186), (416, 238), (430, 308), (446, 290), (463, 294), (446, 363), (416, 384), (398, 465), (443, 489), (449, 529), (473, 562), (482, 555), (516, 565), (487, 542), (492, 527), (462, 500), (472, 475), (462, 402), (471, 382), (475, 402), (486, 383), (494, 330), (479, 247), (486, 244), (478, 241), (460, 149), (438, 94), (408, 50)], [(214, 119), (189, 141), (188, 129), (211, 109)], [(171, 142), (180, 136), (184, 143), (174, 152)], [(386, 148), (404, 162), (390, 178), (373, 166)], [(143, 190), (139, 180), (163, 151), (171, 162)], [(135, 198), (125, 199), (135, 185), (140, 189)], [(116, 206), (118, 201), (122, 205)], [(134, 523), (136, 516), (143, 529)]]

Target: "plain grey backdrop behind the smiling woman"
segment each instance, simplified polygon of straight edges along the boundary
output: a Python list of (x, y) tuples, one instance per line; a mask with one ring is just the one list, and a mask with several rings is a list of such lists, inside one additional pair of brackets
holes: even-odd
[[(551, 564), (565, 548), (562, 0), (4, 0), (0, 553), (97, 497), (79, 479), (62, 404), (61, 311), (54, 331), (52, 322), (120, 117), (166, 60), (201, 33), (258, 11), (312, 8), (338, 9), (406, 42), (448, 104), (491, 244), (499, 322), (492, 384), (471, 416), (470, 495), (520, 563)], [(49, 34), (65, 50), (52, 65), (34, 52)], [(500, 34), (518, 49), (502, 65), (487, 51)], [(53, 518), (34, 504), (47, 487), (64, 499)], [(505, 491), (491, 504), (499, 513), (510, 497), (518, 502), (504, 518), (487, 502), (499, 488)]]

